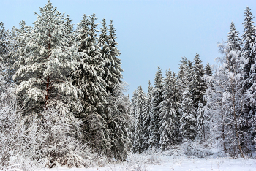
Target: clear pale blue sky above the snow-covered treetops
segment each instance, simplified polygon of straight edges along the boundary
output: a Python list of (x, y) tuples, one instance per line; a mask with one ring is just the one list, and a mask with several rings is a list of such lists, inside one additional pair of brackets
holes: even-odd
[[(157, 66), (163, 75), (167, 69), (178, 72), (182, 56), (193, 60), (200, 54), (203, 64), (215, 64), (220, 56), (217, 42), (226, 40), (230, 23), (243, 32), (244, 9), (256, 15), (256, 0), (51, 0), (53, 7), (69, 14), (77, 24), (83, 14), (105, 18), (116, 27), (121, 51), (124, 81), (129, 94), (139, 85), (147, 91), (154, 83)], [(18, 27), (21, 20), (33, 26), (34, 12), (47, 0), (1, 0), (0, 21), (7, 29)], [(256, 20), (255, 20), (256, 21)]]

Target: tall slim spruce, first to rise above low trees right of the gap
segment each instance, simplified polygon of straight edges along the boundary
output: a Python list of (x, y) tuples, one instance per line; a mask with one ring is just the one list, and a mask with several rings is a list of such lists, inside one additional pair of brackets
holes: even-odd
[(158, 66), (157, 73), (154, 78), (155, 87), (152, 90), (152, 106), (150, 110), (150, 138), (148, 142), (151, 148), (159, 147), (159, 104), (163, 101), (163, 79), (160, 66)]

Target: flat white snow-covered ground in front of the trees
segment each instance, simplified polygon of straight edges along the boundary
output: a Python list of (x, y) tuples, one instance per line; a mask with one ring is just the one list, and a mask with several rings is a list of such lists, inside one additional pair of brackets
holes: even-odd
[[(129, 162), (129, 159), (132, 160)], [(188, 158), (181, 156), (130, 156), (128, 161), (119, 164), (106, 164), (105, 167), (72, 168), (58, 167), (45, 171), (255, 171), (256, 159), (231, 159), (231, 158)], [(146, 164), (148, 160), (152, 164)]]

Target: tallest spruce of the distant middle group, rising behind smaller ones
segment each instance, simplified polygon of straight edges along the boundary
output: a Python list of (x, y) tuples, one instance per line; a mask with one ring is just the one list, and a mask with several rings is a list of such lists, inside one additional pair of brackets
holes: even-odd
[(198, 103), (203, 102), (203, 95), (206, 92), (206, 83), (203, 80), (204, 69), (203, 63), (200, 60), (199, 54), (197, 53), (194, 59), (193, 66), (193, 79), (192, 79), (192, 99), (194, 102), (195, 109), (198, 108)]

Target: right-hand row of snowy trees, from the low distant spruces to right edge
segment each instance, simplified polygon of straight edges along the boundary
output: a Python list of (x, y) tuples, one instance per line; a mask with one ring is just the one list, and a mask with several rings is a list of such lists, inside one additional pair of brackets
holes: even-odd
[(138, 86), (132, 94), (134, 151), (195, 140), (215, 143), (230, 156), (255, 151), (256, 30), (249, 7), (244, 16), (241, 38), (232, 22), (227, 41), (218, 42), (218, 65), (204, 68), (197, 53), (194, 61), (181, 58), (178, 75), (168, 69), (164, 78), (158, 67), (147, 93)]

